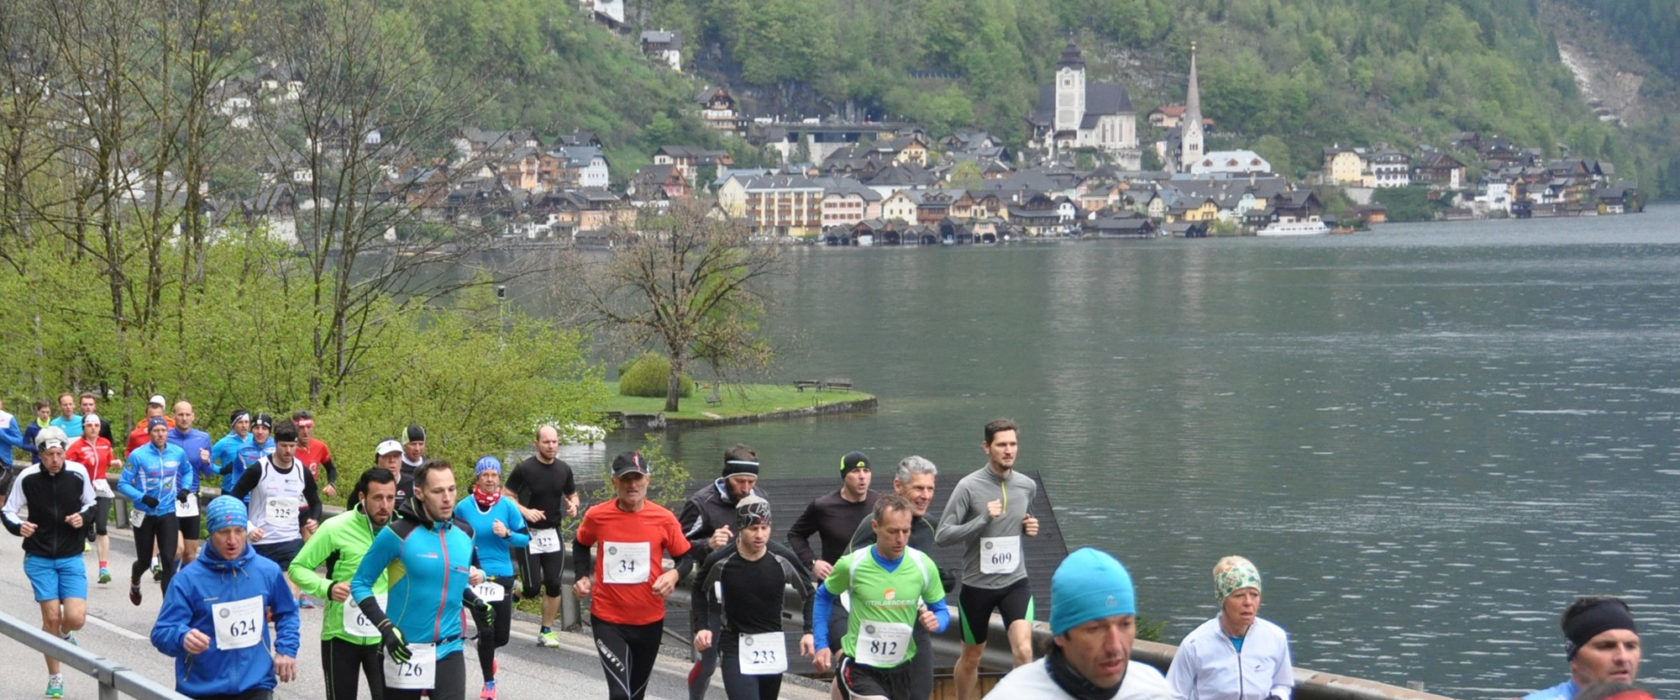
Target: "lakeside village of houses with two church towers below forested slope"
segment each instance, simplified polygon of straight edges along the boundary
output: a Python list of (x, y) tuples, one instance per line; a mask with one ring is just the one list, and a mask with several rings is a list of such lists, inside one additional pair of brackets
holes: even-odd
[[(603, 7), (595, 12), (613, 5)], [(625, 32), (622, 20), (598, 18)], [(680, 34), (645, 30), (638, 44), (650, 62), (682, 69)], [(1609, 161), (1546, 158), (1536, 144), (1478, 133), (1411, 153), (1326, 144), (1322, 170), (1290, 181), (1252, 149), (1208, 149), (1218, 116), (1203, 114), (1194, 47), (1184, 102), (1147, 114), (1137, 114), (1124, 84), (1087, 81), (1079, 45), (1068, 42), (1055, 81), (1040, 86), (1037, 109), (1021, 116), (1020, 149), (984, 131), (931, 134), (906, 123), (749, 114), (727, 87), (706, 87), (694, 102), (699, 118), (780, 166), (736, 168), (729, 151), (667, 144), (617, 186), (593, 133), (546, 138), (462, 124), (444, 163), (418, 161), (371, 128), (311, 141), (319, 154), (270, 154), (255, 165), (255, 191), (212, 206), (222, 220), (237, 215), (296, 242), (297, 222), (324, 206), (309, 163), (360, 139), (383, 173), (370, 186), (375, 201), (514, 247), (612, 247), (635, 230), (640, 212), (697, 196), (716, 201), (712, 215), (746, 222), (754, 240), (835, 247), (1347, 233), (1388, 222), (1381, 191), (1398, 188), (1423, 191), (1433, 218), (1643, 210), (1638, 186), (1618, 180)], [(257, 129), (254, 106), (297, 101), (307, 81), (265, 65), (223, 82), (218, 112), (235, 129)], [(1332, 195), (1336, 208), (1326, 201)], [(398, 232), (386, 235), (395, 240)]]

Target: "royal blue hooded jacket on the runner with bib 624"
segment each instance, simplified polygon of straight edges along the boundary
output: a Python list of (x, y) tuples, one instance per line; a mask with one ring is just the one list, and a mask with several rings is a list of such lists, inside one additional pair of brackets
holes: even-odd
[[(270, 640), (269, 626), (257, 618), (262, 628), (260, 645), (232, 651), (218, 648), (212, 606), (257, 596), (274, 611), (276, 636)], [(208, 635), (210, 648), (197, 655), (186, 653), (181, 640), (188, 629)], [(163, 594), (158, 623), (151, 626), (151, 646), (175, 656), (175, 690), (181, 695), (197, 698), (274, 688), (270, 655), (297, 658), (297, 601), (286, 588), (279, 564), (257, 556), (249, 544), (232, 561), (222, 559), (215, 547), (207, 546), (198, 559), (175, 574)]]

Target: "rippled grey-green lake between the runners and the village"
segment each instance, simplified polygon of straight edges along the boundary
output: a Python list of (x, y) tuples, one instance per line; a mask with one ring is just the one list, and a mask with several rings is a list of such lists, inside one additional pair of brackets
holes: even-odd
[(771, 488), (864, 450), (885, 488), (916, 453), (937, 509), (1010, 416), (1068, 546), (1127, 564), (1163, 641), (1243, 554), (1300, 666), (1512, 697), (1566, 676), (1557, 616), (1604, 593), (1641, 682), (1680, 688), (1680, 208), (791, 257), (771, 379), (880, 410), (672, 436), (694, 473), (736, 441)]

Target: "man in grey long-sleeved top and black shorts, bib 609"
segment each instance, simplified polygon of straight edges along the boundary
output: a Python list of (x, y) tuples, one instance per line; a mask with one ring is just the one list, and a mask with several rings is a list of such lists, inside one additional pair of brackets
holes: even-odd
[(1033, 661), (1033, 589), (1026, 582), (1021, 535), (1038, 535), (1038, 519), (1026, 512), (1038, 485), (1015, 472), (1018, 430), (1010, 420), (986, 423), (986, 467), (963, 477), (951, 490), (934, 542), (963, 544), (963, 655), (951, 671), (958, 700), (979, 698), (979, 655), (986, 651), (991, 611), (1003, 614), (1016, 666)]

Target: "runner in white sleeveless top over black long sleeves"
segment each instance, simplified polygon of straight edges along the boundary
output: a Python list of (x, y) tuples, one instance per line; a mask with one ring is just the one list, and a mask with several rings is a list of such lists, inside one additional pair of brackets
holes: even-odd
[[(297, 450), (297, 426), (282, 420), (274, 426), (274, 453), (257, 467), (245, 470), (228, 495), (250, 495), (250, 542), (257, 554), (284, 571), (302, 549), (304, 539), (314, 534), (321, 522), (321, 497), (316, 495), (314, 477), (292, 455)], [(297, 596), (297, 586), (286, 581)], [(299, 596), (299, 606), (314, 603)]]

